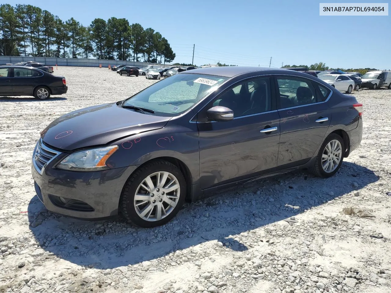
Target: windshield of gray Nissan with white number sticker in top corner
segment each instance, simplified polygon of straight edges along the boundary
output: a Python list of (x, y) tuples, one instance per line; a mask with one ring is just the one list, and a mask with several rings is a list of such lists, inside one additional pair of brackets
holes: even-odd
[(199, 102), (226, 80), (228, 77), (176, 74), (156, 82), (122, 105), (150, 109), (160, 116), (176, 116)]

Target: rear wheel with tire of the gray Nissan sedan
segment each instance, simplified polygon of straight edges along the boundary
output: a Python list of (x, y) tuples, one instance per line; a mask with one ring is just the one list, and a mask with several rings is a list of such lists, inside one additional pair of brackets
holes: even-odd
[(339, 170), (344, 156), (344, 142), (341, 136), (332, 133), (323, 142), (310, 171), (314, 175), (327, 178)]

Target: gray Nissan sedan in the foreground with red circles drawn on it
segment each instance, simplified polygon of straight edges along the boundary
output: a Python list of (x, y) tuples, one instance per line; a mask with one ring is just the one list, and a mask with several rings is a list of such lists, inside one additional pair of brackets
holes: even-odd
[(32, 175), (50, 211), (155, 227), (185, 200), (239, 183), (304, 167), (334, 175), (361, 142), (361, 115), (353, 96), (305, 73), (184, 71), (50, 123)]

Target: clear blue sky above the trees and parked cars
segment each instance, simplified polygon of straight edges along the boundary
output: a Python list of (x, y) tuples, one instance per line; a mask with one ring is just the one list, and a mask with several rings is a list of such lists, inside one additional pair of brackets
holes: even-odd
[[(325, 0), (319, 2), (326, 2)], [(325, 62), (337, 68), (391, 69), (391, 16), (319, 16), (314, 0), (32, 0), (83, 25), (111, 16), (152, 27), (168, 39), (174, 62), (281, 67)], [(337, 1), (328, 1), (337, 2)], [(341, 3), (359, 3), (348, 1)], [(370, 1), (365, 1), (370, 2)], [(378, 3), (381, 1), (373, 1)]]

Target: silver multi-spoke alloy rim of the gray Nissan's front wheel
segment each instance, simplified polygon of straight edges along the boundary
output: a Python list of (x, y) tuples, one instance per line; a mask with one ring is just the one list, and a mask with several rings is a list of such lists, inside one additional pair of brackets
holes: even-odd
[(154, 222), (168, 216), (181, 195), (178, 179), (170, 172), (155, 172), (145, 177), (136, 189), (134, 207), (143, 220)]

